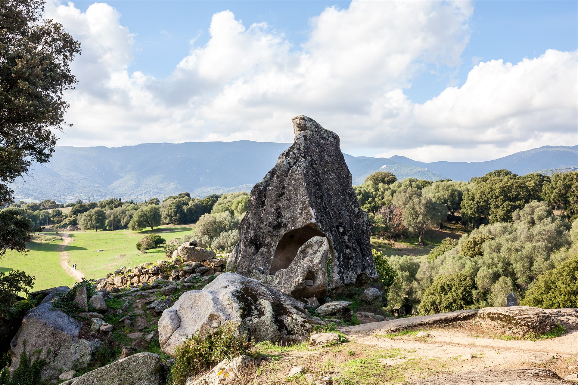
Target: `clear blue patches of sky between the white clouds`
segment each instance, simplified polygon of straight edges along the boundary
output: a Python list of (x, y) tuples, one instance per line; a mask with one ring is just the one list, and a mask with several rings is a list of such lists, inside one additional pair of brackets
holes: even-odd
[[(73, 1), (86, 11), (94, 1)], [(299, 46), (308, 36), (309, 18), (325, 8), (347, 8), (349, 1), (106, 1), (122, 14), (121, 24), (135, 33), (135, 58), (129, 70), (156, 77), (171, 74), (175, 65), (195, 44), (206, 44), (207, 29), (214, 13), (231, 10), (243, 24), (266, 21)], [(536, 57), (547, 49), (578, 48), (578, 1), (505, 1), (474, 3), (470, 42), (457, 69), (436, 68), (412, 82), (406, 95), (423, 103), (448, 85), (462, 85), (479, 61), (504, 59), (518, 62)]]

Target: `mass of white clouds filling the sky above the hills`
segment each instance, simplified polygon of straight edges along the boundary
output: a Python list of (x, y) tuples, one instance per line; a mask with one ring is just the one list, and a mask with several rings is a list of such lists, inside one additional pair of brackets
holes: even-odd
[(296, 47), (267, 23), (246, 27), (224, 11), (213, 15), (205, 45), (155, 79), (127, 72), (134, 36), (114, 8), (95, 3), (81, 13), (53, 0), (46, 16), (83, 49), (73, 65), (79, 84), (67, 95), (75, 128), (60, 144), (288, 142), (298, 114), (337, 132), (344, 149), (420, 160), (449, 160), (449, 149), (477, 160), (578, 143), (576, 52), (481, 62), (462, 87), (423, 104), (407, 99), (402, 89), (427, 65), (460, 64), (472, 12), (469, 1), (353, 1), (313, 18)]

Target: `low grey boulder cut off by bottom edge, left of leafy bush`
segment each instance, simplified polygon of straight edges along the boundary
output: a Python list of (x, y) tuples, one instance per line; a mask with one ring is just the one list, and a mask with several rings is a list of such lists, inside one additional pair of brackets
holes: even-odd
[(138, 353), (108, 364), (61, 385), (159, 385), (161, 358), (153, 353)]

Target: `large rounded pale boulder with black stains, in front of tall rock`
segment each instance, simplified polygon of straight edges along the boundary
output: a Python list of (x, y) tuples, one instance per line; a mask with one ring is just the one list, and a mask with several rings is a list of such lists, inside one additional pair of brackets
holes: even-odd
[(321, 324), (303, 304), (255, 279), (224, 273), (203, 287), (182, 294), (158, 320), (163, 352), (173, 355), (186, 336), (208, 334), (225, 322), (238, 322), (256, 342), (305, 339), (314, 324)]

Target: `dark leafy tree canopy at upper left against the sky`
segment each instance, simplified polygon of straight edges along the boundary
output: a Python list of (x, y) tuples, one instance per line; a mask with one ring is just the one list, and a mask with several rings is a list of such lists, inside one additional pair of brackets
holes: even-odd
[(43, 0), (0, 0), (0, 203), (8, 184), (50, 159), (54, 129), (65, 125), (64, 91), (76, 83), (70, 63), (80, 43), (43, 19)]

